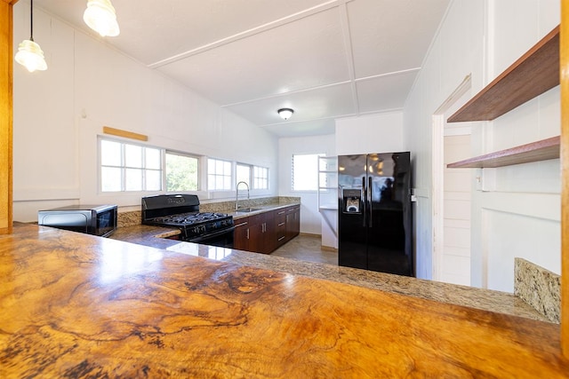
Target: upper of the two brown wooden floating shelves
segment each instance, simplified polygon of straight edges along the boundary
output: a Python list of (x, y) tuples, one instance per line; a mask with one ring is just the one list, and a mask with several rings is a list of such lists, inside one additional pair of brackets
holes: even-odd
[(559, 84), (559, 27), (448, 118), (490, 121)]

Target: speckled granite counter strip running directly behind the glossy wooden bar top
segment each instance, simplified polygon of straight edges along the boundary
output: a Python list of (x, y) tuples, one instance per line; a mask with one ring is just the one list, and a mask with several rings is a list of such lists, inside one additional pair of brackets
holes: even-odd
[[(268, 206), (268, 209), (270, 209), (270, 206)], [(525, 303), (525, 301), (506, 292), (164, 239), (164, 237), (176, 233), (179, 232), (159, 226), (132, 225), (119, 228), (110, 238), (167, 249), (191, 256), (212, 258), (237, 265), (288, 272), (310, 278), (333, 280), (405, 296), (416, 296), (437, 302), (469, 306), (484, 311), (549, 321), (544, 315)]]

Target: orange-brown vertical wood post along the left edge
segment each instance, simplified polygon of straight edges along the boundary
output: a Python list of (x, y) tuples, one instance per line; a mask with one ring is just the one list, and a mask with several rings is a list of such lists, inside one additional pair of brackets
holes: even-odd
[(0, 0), (0, 234), (12, 233), (12, 7)]

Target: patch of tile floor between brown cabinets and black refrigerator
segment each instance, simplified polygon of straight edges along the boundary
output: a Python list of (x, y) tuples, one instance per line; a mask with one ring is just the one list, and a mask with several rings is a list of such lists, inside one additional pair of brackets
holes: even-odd
[(338, 265), (338, 252), (320, 249), (321, 242), (319, 235), (299, 235), (273, 251), (271, 256)]

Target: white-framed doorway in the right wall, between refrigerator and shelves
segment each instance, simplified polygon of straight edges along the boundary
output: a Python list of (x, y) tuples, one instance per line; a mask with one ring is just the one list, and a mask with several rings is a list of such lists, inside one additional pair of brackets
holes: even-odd
[(471, 171), (446, 164), (470, 155), (470, 127), (446, 119), (467, 99), (470, 75), (432, 117), (432, 279), (470, 285)]

